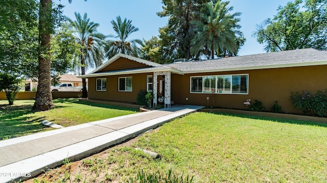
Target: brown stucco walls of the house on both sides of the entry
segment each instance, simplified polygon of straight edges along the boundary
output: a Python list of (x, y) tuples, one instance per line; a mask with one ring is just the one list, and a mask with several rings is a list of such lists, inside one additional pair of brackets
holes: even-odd
[[(171, 99), (175, 104), (203, 105), (231, 109), (246, 109), (243, 104), (247, 99), (259, 100), (271, 111), (275, 101), (282, 106), (284, 113), (300, 113), (290, 101), (291, 91), (306, 90), (315, 92), (327, 88), (325, 71), (327, 66), (305, 66), (276, 69), (244, 70), (196, 74), (172, 74)], [(248, 94), (194, 94), (190, 93), (191, 76), (248, 74)], [(136, 103), (139, 90), (146, 90), (147, 75), (153, 73), (105, 76), (89, 78), (89, 99)], [(119, 77), (133, 77), (132, 92), (118, 91)], [(96, 91), (96, 79), (107, 79), (107, 90)], [(209, 100), (207, 100), (209, 97)], [(188, 98), (188, 100), (186, 100)], [(249, 107), (249, 106), (248, 106)]]

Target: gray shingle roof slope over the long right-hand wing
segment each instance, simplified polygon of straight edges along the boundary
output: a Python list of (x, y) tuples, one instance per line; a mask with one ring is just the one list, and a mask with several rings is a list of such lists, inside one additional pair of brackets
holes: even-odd
[(292, 67), (292, 65), (319, 65), (319, 62), (325, 61), (327, 61), (327, 51), (307, 48), (244, 56), (232, 56), (211, 60), (173, 63), (167, 64), (166, 66), (181, 70), (184, 73), (194, 73), (205, 70), (244, 70), (246, 68), (272, 68), (269, 66), (283, 67), (283, 65), (287, 65), (288, 67)]

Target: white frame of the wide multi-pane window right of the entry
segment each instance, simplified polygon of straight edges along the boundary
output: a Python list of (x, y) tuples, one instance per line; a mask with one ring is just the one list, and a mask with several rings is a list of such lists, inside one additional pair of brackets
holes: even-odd
[[(232, 77), (233, 76), (247, 76), (247, 91), (246, 93), (232, 93)], [(225, 75), (207, 75), (207, 76), (216, 76), (216, 88), (215, 88), (215, 93), (214, 94), (233, 94), (233, 95), (249, 95), (249, 74), (225, 74)], [(210, 94), (208, 92), (204, 92), (204, 77), (207, 76), (191, 76), (190, 77), (190, 93), (191, 94)], [(219, 76), (230, 76), (230, 93), (218, 93), (218, 77)], [(194, 77), (202, 77), (202, 92), (192, 92), (192, 78)]]

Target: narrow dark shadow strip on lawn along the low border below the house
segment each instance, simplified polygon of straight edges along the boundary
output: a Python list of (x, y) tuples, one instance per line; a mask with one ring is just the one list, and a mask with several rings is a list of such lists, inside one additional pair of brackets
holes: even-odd
[(268, 121), (273, 121), (273, 122), (278, 122), (278, 123), (327, 127), (327, 123), (316, 122), (316, 121), (285, 119), (285, 118), (276, 118), (276, 117), (265, 117), (265, 116), (256, 116), (256, 115), (247, 115), (247, 114), (233, 114), (233, 113), (214, 113), (214, 114), (225, 115), (225, 116), (243, 117), (243, 118), (248, 118), (248, 119), (268, 120)]

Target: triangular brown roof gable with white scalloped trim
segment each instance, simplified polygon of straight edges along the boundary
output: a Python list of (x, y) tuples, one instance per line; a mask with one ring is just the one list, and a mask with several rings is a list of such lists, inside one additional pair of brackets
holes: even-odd
[(109, 60), (107, 60), (107, 62), (99, 66), (97, 69), (92, 71), (90, 74), (107, 72), (107, 71), (119, 71), (119, 70), (151, 68), (151, 67), (162, 67), (162, 65), (154, 62), (150, 62), (149, 60), (118, 53), (114, 55), (112, 58), (110, 58)]

